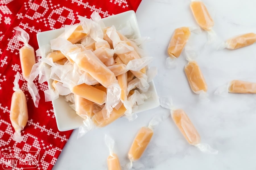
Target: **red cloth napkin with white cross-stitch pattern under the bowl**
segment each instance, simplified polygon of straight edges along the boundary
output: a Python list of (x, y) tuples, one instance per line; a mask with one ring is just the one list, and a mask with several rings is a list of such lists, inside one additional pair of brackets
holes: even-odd
[[(44, 101), (46, 83), (36, 82), (40, 94), (38, 108), (34, 107), (26, 82), (20, 74), (20, 89), (28, 105), (28, 123), (22, 131), (21, 143), (13, 141), (14, 129), (9, 118), (13, 81), (21, 73), (15, 26), (30, 35), (29, 44), (38, 49), (36, 34), (78, 23), (77, 15), (90, 17), (96, 10), (102, 17), (127, 10), (137, 10), (141, 0), (0, 0), (0, 169), (51, 169), (69, 139), (71, 131), (57, 129), (51, 102)], [(37, 58), (38, 59), (38, 58)], [(25, 160), (21, 162), (20, 160)], [(3, 166), (3, 167), (2, 167)]]

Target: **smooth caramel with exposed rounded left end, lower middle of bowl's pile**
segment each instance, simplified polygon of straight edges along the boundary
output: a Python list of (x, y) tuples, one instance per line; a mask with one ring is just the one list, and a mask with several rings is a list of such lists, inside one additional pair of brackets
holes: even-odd
[(104, 91), (99, 90), (93, 86), (89, 86), (87, 84), (80, 84), (78, 86), (74, 86), (71, 89), (71, 92), (99, 105), (104, 104), (107, 98)]

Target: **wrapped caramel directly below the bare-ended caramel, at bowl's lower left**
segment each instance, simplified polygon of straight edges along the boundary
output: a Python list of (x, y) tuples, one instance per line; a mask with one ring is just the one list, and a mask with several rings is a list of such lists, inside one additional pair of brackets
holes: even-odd
[(76, 94), (74, 94), (74, 98), (75, 98), (75, 111), (80, 117), (86, 119), (87, 116), (92, 117), (94, 115), (93, 113), (94, 106), (92, 101), (87, 100)]

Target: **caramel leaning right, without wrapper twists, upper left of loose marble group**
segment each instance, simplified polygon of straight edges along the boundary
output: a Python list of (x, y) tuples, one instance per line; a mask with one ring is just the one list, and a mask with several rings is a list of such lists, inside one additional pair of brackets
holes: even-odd
[(177, 28), (168, 46), (168, 55), (178, 58), (190, 37), (189, 27)]

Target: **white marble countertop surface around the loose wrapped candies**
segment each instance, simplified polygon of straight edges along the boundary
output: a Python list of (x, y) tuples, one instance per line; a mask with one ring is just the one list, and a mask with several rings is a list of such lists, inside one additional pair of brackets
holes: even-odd
[[(256, 1), (204, 2), (215, 12), (213, 29), (221, 39), (256, 32)], [(210, 144), (219, 153), (205, 154), (189, 145), (172, 119), (167, 118), (154, 130), (150, 144), (141, 159), (134, 163), (134, 169), (256, 169), (256, 95), (214, 95), (216, 88), (233, 79), (256, 82), (256, 44), (233, 51), (217, 51), (212, 46), (205, 46), (205, 31), (191, 33), (189, 44), (199, 54), (197, 63), (205, 76), (210, 96), (210, 102), (200, 103), (199, 96), (190, 90), (183, 71), (187, 63), (184, 53), (178, 58), (175, 69), (165, 66), (166, 49), (174, 29), (197, 25), (189, 3), (189, 0), (142, 0), (136, 16), (141, 35), (152, 38), (145, 47), (154, 57), (151, 66), (158, 68), (154, 78), (158, 95), (172, 97), (174, 104), (186, 111), (202, 142)], [(115, 152), (121, 165), (125, 165), (137, 131), (147, 126), (154, 115), (167, 112), (158, 107), (138, 114), (133, 122), (120, 118), (106, 128), (90, 131), (79, 140), (76, 129), (53, 169), (107, 169), (109, 151), (104, 142), (105, 134), (115, 139)]]

